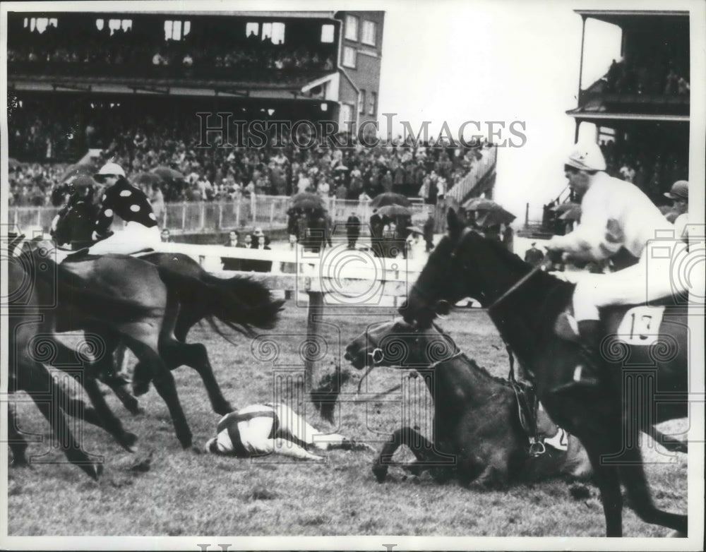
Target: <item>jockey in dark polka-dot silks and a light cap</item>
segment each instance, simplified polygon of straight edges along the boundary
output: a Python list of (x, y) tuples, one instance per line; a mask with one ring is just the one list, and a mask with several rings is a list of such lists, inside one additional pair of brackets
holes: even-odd
[[(88, 253), (127, 254), (160, 244), (160, 230), (150, 200), (143, 191), (131, 186), (119, 164), (104, 164), (95, 175), (95, 180), (104, 182), (107, 188), (93, 232), (93, 239), (101, 241), (94, 244)], [(125, 221), (125, 229), (101, 239), (109, 231), (114, 215)]]

